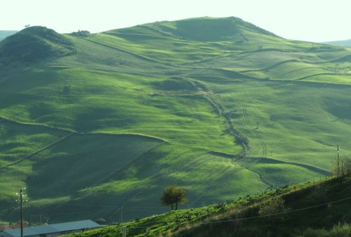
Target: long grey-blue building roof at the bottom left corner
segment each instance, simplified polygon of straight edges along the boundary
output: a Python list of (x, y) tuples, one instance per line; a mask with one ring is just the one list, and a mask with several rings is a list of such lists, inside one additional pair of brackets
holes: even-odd
[[(44, 233), (59, 233), (62, 231), (74, 231), (77, 229), (92, 229), (100, 227), (90, 219), (78, 222), (65, 222), (60, 224), (47, 224), (43, 226), (31, 226), (23, 228), (23, 236), (37, 236)], [(20, 228), (0, 231), (0, 236), (20, 237)]]

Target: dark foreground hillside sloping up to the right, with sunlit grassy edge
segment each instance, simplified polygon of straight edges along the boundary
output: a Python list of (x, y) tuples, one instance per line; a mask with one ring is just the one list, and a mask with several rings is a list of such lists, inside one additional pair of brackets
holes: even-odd
[[(126, 227), (127, 236), (140, 237), (322, 236), (321, 233), (326, 231), (310, 229), (329, 230), (335, 226), (333, 232), (339, 232), (336, 236), (347, 237), (350, 236), (351, 222), (348, 211), (351, 200), (350, 184), (349, 175), (343, 178), (284, 186), (236, 201), (168, 211), (164, 214), (117, 223), (71, 236), (120, 236), (122, 226)], [(271, 214), (261, 214), (260, 210), (267, 207), (267, 203), (272, 205), (277, 203), (277, 200), (283, 202), (279, 209), (272, 209)], [(349, 224), (340, 228), (343, 223)], [(336, 231), (337, 229), (340, 230)], [(314, 235), (312, 235), (313, 232)]]

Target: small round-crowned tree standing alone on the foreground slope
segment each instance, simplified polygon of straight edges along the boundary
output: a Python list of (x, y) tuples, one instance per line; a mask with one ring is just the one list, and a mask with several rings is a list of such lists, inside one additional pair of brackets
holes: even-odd
[(185, 189), (174, 184), (169, 185), (164, 189), (164, 193), (161, 196), (161, 203), (165, 206), (175, 207), (178, 210), (178, 204), (183, 204), (187, 202), (187, 197)]

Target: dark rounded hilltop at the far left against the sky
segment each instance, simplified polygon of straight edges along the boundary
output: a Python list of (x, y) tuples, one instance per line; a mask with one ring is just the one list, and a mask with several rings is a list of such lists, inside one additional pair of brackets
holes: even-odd
[(0, 62), (34, 62), (76, 53), (72, 41), (46, 27), (27, 27), (1, 41)]

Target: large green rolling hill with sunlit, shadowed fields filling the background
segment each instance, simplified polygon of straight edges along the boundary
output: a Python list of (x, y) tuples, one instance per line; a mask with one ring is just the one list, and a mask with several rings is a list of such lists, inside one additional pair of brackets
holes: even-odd
[(18, 32), (0, 43), (0, 218), (23, 186), (25, 219), (119, 222), (168, 210), (168, 184), (199, 207), (318, 179), (351, 150), (350, 58), (234, 17)]

